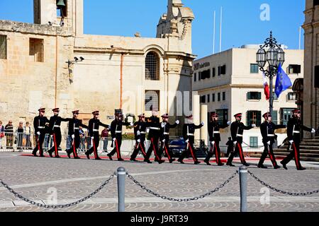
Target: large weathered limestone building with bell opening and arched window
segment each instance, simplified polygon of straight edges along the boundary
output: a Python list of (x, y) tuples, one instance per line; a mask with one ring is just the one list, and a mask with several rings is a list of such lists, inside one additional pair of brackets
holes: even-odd
[(158, 107), (159, 114), (176, 113), (177, 91), (191, 90), (190, 8), (169, 0), (157, 37), (119, 37), (84, 34), (83, 0), (64, 3), (59, 15), (56, 0), (34, 0), (34, 23), (0, 20), (4, 124), (32, 121), (40, 106), (47, 116), (54, 107), (62, 117), (79, 109), (84, 122), (95, 109), (106, 123), (114, 109), (150, 115)]

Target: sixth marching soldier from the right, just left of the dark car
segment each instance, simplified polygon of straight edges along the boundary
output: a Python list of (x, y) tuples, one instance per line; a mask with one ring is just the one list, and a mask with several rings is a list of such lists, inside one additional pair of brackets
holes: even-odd
[(172, 151), (169, 150), (169, 129), (176, 128), (179, 125), (179, 120), (175, 121), (175, 124), (171, 125), (169, 124), (169, 115), (163, 114), (162, 115), (162, 123), (161, 123), (161, 129), (159, 131), (160, 133), (160, 141), (161, 141), (161, 148), (159, 148), (159, 155), (162, 156), (162, 153), (165, 151), (167, 158), (169, 159), (169, 163), (172, 163), (175, 161), (174, 158), (172, 158)]

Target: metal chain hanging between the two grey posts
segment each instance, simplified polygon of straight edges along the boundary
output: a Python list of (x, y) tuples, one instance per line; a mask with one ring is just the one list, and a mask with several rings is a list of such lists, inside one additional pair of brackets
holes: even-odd
[(147, 191), (149, 194), (152, 194), (153, 196), (156, 196), (157, 198), (162, 198), (164, 200), (174, 201), (174, 202), (189, 202), (189, 201), (197, 201), (198, 199), (205, 198), (206, 196), (211, 196), (213, 193), (215, 193), (216, 191), (219, 191), (226, 184), (228, 184), (234, 177), (236, 177), (237, 174), (238, 174), (238, 171), (236, 171), (231, 177), (229, 177), (223, 184), (220, 184), (220, 186), (216, 187), (216, 189), (208, 191), (206, 194), (203, 194), (201, 196), (196, 196), (194, 198), (169, 198), (167, 196), (162, 196), (150, 189), (147, 189), (146, 186), (143, 186), (142, 184), (140, 184), (140, 182), (138, 182), (132, 175), (128, 174), (128, 178), (131, 179), (136, 185), (140, 186), (142, 190)]

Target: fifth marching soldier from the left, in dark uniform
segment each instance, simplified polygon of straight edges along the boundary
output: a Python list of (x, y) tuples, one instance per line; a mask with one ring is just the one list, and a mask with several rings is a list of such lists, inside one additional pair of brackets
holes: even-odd
[(112, 159), (112, 156), (117, 153), (118, 161), (124, 161), (121, 157), (121, 145), (122, 145), (122, 126), (133, 126), (133, 123), (123, 122), (123, 114), (117, 112), (116, 119), (111, 123), (111, 136), (113, 139), (114, 148), (111, 153), (108, 153), (108, 158)]

